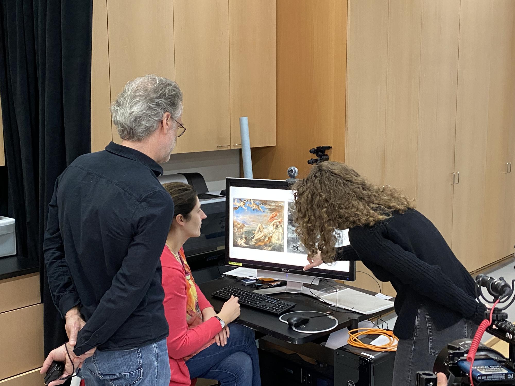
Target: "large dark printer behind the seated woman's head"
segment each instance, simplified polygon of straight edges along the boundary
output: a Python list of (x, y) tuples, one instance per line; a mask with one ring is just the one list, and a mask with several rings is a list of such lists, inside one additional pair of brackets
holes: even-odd
[[(223, 266), (225, 257), (225, 196), (208, 191), (208, 186), (200, 173), (164, 174), (159, 177), (162, 184), (183, 182), (195, 188), (203, 212), (200, 236), (184, 243), (184, 254), (188, 265), (195, 273), (197, 283), (214, 279), (220, 275), (219, 265)], [(219, 193), (219, 192), (218, 192)]]

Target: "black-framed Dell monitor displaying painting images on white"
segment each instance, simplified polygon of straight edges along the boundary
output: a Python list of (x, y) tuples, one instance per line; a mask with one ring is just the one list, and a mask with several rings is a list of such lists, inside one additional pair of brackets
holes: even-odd
[[(307, 252), (295, 233), (294, 191), (286, 181), (228, 178), (226, 185), (226, 265), (355, 280), (354, 261), (303, 271)], [(348, 230), (335, 236), (337, 247), (349, 244)]]

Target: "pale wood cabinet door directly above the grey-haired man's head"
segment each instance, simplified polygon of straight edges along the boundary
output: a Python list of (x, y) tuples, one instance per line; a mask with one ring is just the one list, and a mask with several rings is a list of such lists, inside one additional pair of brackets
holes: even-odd
[[(111, 100), (125, 83), (142, 75), (175, 79), (173, 4), (108, 0), (107, 11)], [(113, 139), (121, 142), (114, 127)]]

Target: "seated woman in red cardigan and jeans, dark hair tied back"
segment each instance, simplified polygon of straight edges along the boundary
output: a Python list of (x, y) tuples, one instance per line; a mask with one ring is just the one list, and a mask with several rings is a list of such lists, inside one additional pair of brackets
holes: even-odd
[[(175, 204), (174, 220), (161, 255), (170, 385), (190, 385), (191, 378), (216, 379), (222, 386), (260, 386), (254, 331), (229, 323), (239, 315), (237, 297), (217, 314), (195, 284), (182, 245), (200, 236), (206, 218), (197, 192), (181, 182), (164, 184)], [(215, 343), (216, 344), (213, 344)]]

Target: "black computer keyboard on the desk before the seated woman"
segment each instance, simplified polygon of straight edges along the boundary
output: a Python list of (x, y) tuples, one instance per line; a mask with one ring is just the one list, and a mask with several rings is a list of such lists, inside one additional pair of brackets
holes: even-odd
[(231, 295), (233, 295), (238, 297), (238, 303), (243, 306), (271, 312), (276, 315), (280, 315), (284, 311), (295, 307), (295, 303), (293, 302), (275, 299), (272, 296), (262, 295), (261, 293), (250, 292), (242, 288), (232, 286), (221, 288), (218, 291), (213, 292), (211, 295), (223, 300), (229, 300)]

